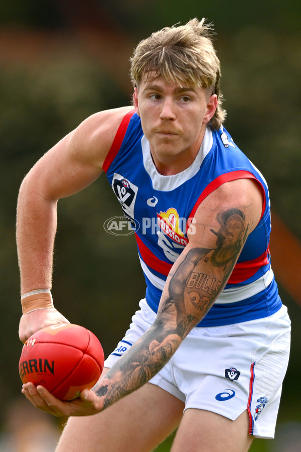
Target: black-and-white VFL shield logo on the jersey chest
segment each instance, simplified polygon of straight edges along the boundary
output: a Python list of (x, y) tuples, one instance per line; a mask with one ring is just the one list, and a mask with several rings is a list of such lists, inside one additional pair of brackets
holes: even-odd
[(134, 218), (134, 205), (138, 187), (125, 177), (115, 173), (112, 179), (112, 188), (125, 215)]

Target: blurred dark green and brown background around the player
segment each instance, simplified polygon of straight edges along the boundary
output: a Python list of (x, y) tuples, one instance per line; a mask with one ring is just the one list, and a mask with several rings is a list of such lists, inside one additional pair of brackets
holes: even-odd
[[(251, 450), (301, 450), (301, 294), (299, 269), (294, 268), (301, 262), (301, 4), (292, 0), (2, 0), (0, 452), (7, 450), (2, 446), (7, 438), (17, 435), (16, 412), (24, 409), (18, 374), (22, 344), (15, 245), (20, 183), (38, 158), (87, 116), (130, 102), (128, 59), (140, 39), (193, 17), (214, 23), (228, 110), (225, 126), (264, 174), (273, 212), (293, 238), (288, 241), (284, 233), (274, 238), (275, 246), (282, 246), (274, 271), (292, 319), (291, 358), (276, 438), (255, 440)], [(103, 230), (104, 221), (120, 213), (105, 177), (61, 200), (58, 209), (56, 307), (71, 322), (91, 329), (107, 355), (144, 295), (135, 240)], [(291, 275), (288, 285), (282, 278), (284, 270)], [(170, 444), (167, 440), (157, 450), (167, 451)]]

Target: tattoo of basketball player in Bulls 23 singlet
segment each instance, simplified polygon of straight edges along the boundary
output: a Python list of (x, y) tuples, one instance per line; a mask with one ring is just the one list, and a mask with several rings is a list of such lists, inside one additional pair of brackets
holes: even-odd
[[(194, 315), (203, 316), (228, 280), (236, 259), (247, 237), (248, 227), (244, 213), (236, 208), (219, 212), (218, 231), (210, 229), (217, 236), (216, 248), (194, 248), (190, 250), (179, 265), (169, 284), (169, 298), (161, 312), (175, 305), (177, 309), (177, 332), (181, 337)], [(188, 317), (190, 312), (190, 317)]]

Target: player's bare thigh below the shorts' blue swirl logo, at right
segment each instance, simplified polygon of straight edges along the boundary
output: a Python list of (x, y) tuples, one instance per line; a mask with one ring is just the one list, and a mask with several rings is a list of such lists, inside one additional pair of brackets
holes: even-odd
[(235, 421), (211, 411), (190, 408), (175, 437), (172, 452), (246, 452), (252, 442), (249, 416), (244, 411)]

